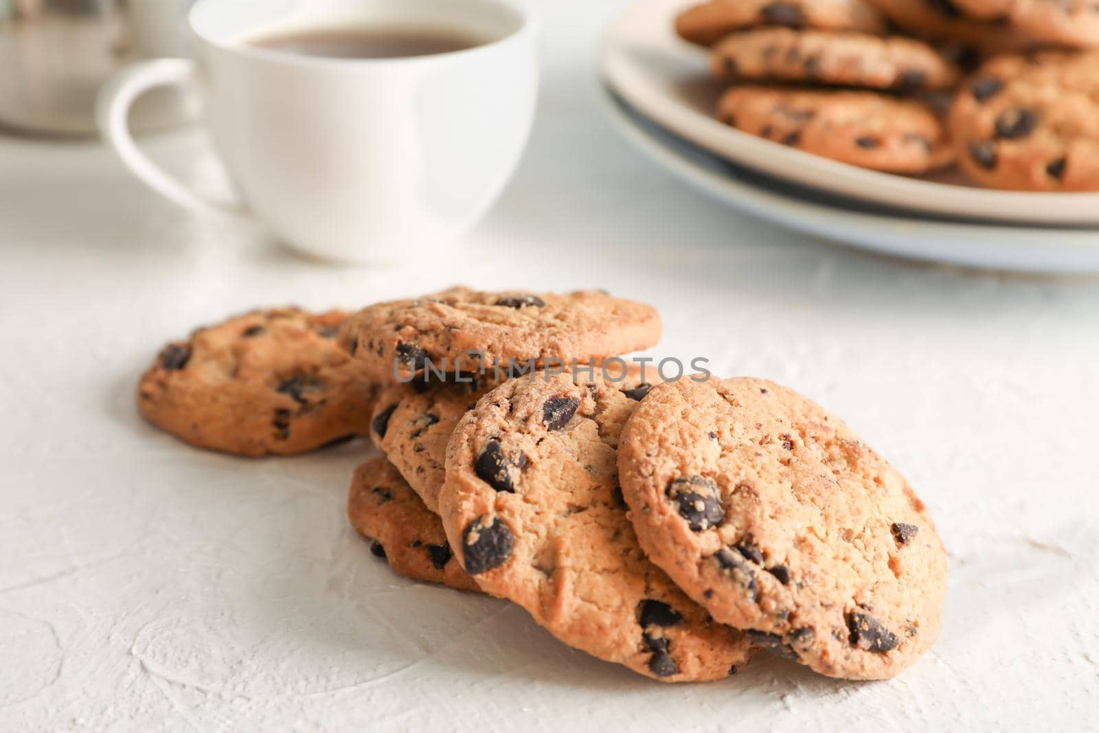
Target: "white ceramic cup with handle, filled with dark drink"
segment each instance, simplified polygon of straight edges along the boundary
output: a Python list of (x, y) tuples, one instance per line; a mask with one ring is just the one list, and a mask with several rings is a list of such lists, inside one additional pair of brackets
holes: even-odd
[[(100, 95), (103, 138), (130, 169), (195, 211), (249, 216), (302, 252), (392, 262), (439, 252), (480, 219), (522, 154), (537, 96), (533, 19), (510, 0), (199, 0), (196, 60), (143, 62)], [(451, 29), (486, 43), (342, 59), (251, 45), (354, 27)], [(204, 200), (149, 160), (132, 103), (193, 85), (242, 209)]]

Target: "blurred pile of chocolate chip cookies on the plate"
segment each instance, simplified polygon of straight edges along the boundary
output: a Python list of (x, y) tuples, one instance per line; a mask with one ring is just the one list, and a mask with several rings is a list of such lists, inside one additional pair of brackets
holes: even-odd
[(710, 0), (676, 21), (734, 85), (719, 118), (776, 143), (976, 184), (1099, 190), (1099, 5)]

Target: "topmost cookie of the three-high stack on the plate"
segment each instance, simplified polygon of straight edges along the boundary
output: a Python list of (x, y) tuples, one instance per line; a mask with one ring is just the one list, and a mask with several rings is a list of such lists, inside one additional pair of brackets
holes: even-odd
[(703, 46), (765, 26), (881, 33), (885, 20), (865, 0), (712, 0), (676, 19), (679, 36)]

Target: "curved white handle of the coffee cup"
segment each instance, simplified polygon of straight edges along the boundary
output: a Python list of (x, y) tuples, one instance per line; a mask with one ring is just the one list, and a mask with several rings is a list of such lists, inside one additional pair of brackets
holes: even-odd
[(186, 58), (159, 58), (127, 66), (111, 77), (99, 92), (96, 103), (96, 122), (103, 141), (122, 163), (149, 188), (180, 207), (200, 214), (245, 220), (243, 204), (207, 200), (179, 182), (148, 156), (142, 153), (130, 133), (130, 108), (149, 89), (157, 87), (186, 87), (196, 81), (195, 62)]

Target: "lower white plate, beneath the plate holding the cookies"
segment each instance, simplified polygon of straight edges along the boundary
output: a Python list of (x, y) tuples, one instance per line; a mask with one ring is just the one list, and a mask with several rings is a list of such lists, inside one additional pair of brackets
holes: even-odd
[(1099, 273), (1095, 232), (947, 222), (837, 207), (820, 195), (742, 169), (645, 120), (609, 90), (611, 120), (650, 157), (731, 207), (790, 229), (864, 249), (967, 267)]

